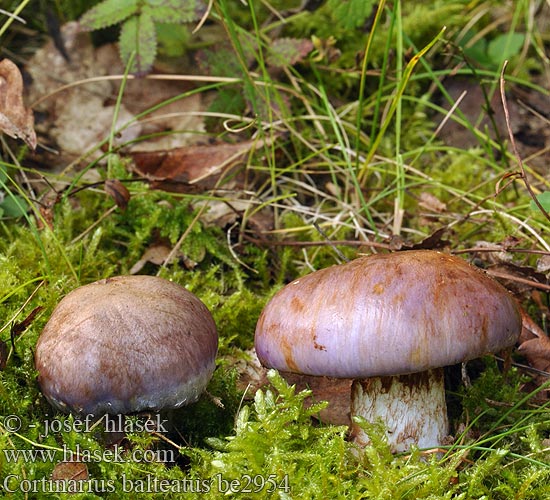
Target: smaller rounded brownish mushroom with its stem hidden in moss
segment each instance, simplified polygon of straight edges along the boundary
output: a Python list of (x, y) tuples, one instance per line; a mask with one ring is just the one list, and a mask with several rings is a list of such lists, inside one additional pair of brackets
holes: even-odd
[(35, 365), (55, 408), (100, 417), (196, 401), (217, 349), (212, 315), (195, 295), (154, 276), (118, 276), (61, 300)]

